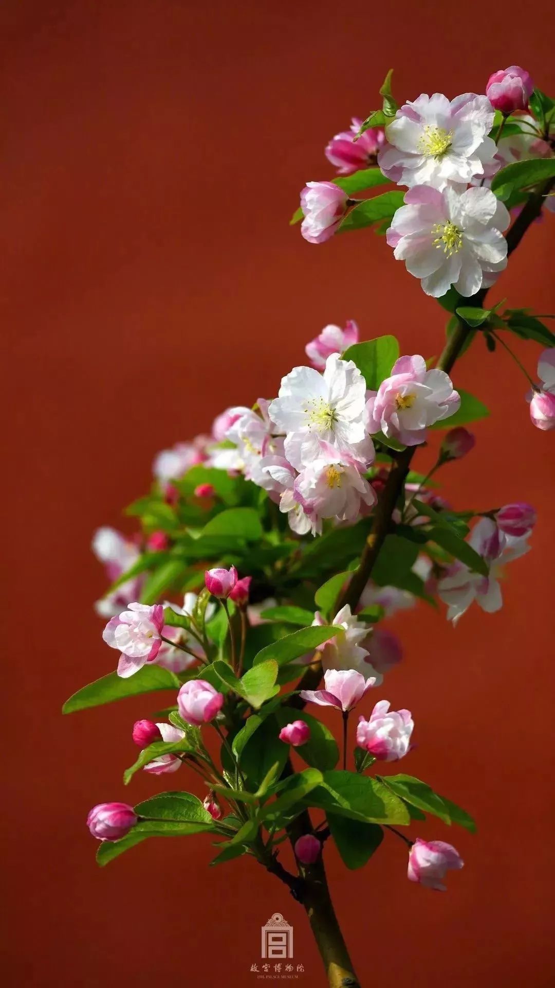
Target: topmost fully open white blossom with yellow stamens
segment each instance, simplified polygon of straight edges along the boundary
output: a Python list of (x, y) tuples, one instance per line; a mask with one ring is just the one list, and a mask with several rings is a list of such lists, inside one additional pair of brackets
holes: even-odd
[(398, 185), (444, 189), (467, 185), (492, 164), (495, 141), (488, 136), (494, 109), (486, 96), (423, 93), (397, 111), (385, 128), (386, 143), (377, 156), (384, 175)]

